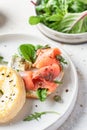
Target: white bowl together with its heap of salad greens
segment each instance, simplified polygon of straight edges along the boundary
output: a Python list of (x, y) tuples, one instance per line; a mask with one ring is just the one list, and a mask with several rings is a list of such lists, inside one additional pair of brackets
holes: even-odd
[(37, 0), (29, 23), (53, 40), (87, 42), (87, 0)]

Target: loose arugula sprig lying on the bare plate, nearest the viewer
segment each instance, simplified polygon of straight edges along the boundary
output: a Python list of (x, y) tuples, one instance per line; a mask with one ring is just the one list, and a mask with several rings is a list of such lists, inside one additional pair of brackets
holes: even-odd
[(35, 112), (34, 114), (29, 115), (28, 117), (26, 117), (24, 119), (24, 121), (31, 121), (31, 120), (37, 120), (39, 118), (41, 118), (42, 115), (45, 114), (59, 114), (58, 112), (54, 112), (54, 111), (44, 111), (44, 112)]

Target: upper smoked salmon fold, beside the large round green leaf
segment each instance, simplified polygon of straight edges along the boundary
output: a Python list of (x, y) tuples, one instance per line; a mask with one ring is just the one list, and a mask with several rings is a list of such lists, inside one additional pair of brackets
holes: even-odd
[(41, 68), (44, 66), (52, 65), (53, 63), (59, 64), (56, 60), (56, 55), (60, 55), (61, 51), (58, 48), (39, 49), (37, 50), (37, 58), (33, 67)]

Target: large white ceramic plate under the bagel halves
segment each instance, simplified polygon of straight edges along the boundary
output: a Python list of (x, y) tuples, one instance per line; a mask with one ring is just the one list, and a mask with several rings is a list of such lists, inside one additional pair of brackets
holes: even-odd
[[(32, 35), (23, 34), (7, 34), (0, 36), (0, 55), (4, 56), (6, 60), (9, 60), (17, 51), (20, 44), (31, 43), (31, 44), (49, 44), (52, 47), (59, 47), (58, 44), (50, 43), (49, 41), (44, 41), (39, 37)], [(58, 88), (58, 90), (49, 96), (45, 102), (40, 102), (39, 100), (28, 99), (20, 111), (20, 113), (12, 120), (9, 124), (0, 124), (1, 130), (44, 130), (57, 122), (57, 128), (66, 120), (66, 118), (71, 113), (78, 91), (77, 83), (77, 73), (75, 67), (64, 52), (64, 50), (59, 47), (62, 51), (64, 57), (68, 61), (68, 67), (65, 69), (65, 76), (63, 79), (63, 84)], [(68, 89), (68, 92), (66, 90)], [(59, 94), (62, 98), (62, 102), (55, 102), (53, 96)], [(47, 114), (43, 115), (39, 121), (33, 120), (30, 122), (24, 122), (23, 119), (31, 113), (43, 112), (43, 111), (56, 111), (59, 114)]]

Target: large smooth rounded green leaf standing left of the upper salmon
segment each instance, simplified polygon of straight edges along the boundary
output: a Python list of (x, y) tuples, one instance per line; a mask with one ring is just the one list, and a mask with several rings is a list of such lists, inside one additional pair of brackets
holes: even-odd
[(35, 61), (35, 47), (32, 44), (22, 44), (18, 48), (19, 54), (30, 62)]

